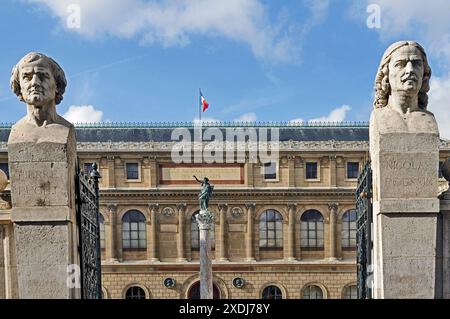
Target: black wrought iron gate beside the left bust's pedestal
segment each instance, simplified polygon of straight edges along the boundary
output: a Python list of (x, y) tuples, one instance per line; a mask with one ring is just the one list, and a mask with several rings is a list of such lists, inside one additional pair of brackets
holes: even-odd
[(97, 164), (90, 172), (77, 169), (75, 177), (81, 266), (81, 298), (101, 299), (100, 224)]

